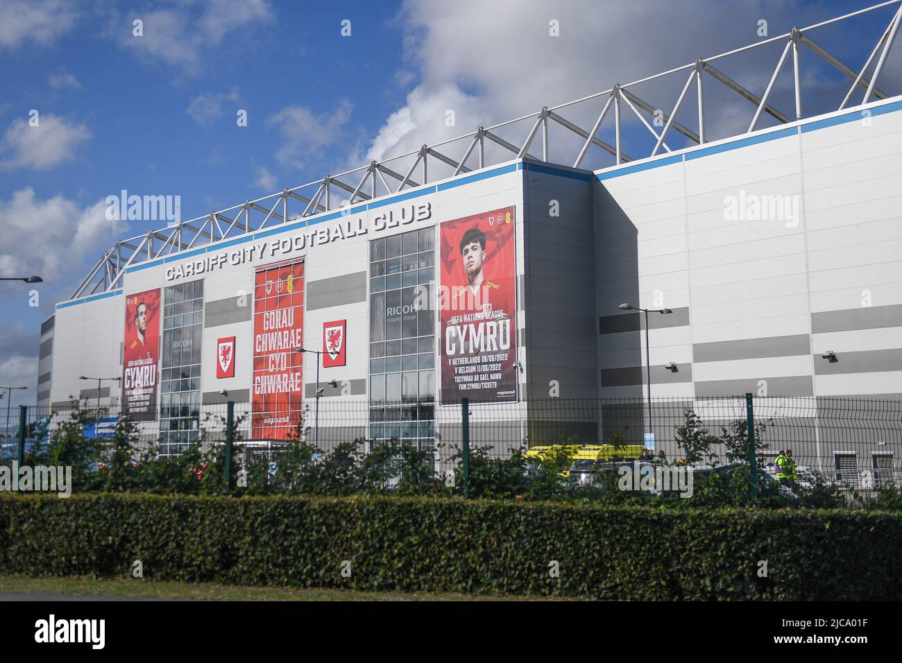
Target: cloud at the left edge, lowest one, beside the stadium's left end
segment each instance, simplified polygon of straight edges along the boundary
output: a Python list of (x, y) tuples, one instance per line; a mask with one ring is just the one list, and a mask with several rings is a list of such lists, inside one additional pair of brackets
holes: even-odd
[(84, 276), (85, 262), (97, 260), (98, 248), (115, 244), (127, 231), (124, 221), (106, 218), (104, 200), (80, 207), (59, 195), (37, 198), (31, 188), (0, 199), (0, 227), (4, 229), (0, 275), (36, 273), (51, 289), (71, 287)]

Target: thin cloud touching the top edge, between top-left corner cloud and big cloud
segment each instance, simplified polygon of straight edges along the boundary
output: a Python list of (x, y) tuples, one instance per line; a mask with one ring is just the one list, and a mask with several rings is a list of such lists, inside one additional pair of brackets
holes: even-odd
[[(200, 14), (191, 11), (197, 6), (203, 7)], [(266, 0), (210, 0), (203, 5), (186, 3), (173, 9), (114, 14), (107, 32), (145, 58), (195, 70), (204, 49), (217, 46), (238, 28), (272, 18)], [(135, 19), (143, 22), (143, 36), (133, 35)]]

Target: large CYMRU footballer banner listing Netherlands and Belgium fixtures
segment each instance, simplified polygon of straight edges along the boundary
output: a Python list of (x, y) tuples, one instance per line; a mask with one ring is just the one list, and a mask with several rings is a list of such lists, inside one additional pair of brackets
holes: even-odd
[(440, 227), (441, 402), (516, 401), (514, 208)]

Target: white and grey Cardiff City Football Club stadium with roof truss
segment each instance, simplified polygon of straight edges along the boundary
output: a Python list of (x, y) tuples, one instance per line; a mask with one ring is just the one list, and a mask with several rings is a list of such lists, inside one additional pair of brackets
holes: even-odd
[[(530, 441), (540, 401), (642, 399), (649, 382), (700, 412), (746, 392), (802, 399), (802, 418), (831, 397), (902, 400), (902, 97), (877, 85), (900, 14), (878, 9), (891, 20), (861, 69), (811, 35), (863, 12), (747, 47), (782, 52), (757, 94), (721, 70), (732, 54), (698, 60), (667, 72), (682, 87), (660, 123), (635, 91), (651, 77), (519, 118), (519, 143), (514, 123), (480, 127), (123, 240), (41, 327), (39, 405), (99, 397), (177, 454), (226, 401), (247, 439), (284, 439), (318, 406), (324, 438), (429, 446), (462, 398), (474, 426)], [(848, 75), (837, 110), (802, 113), (803, 50)], [(718, 94), (748, 131), (706, 137)], [(566, 119), (584, 107), (588, 131)], [(630, 158), (637, 132), (653, 150)], [(602, 437), (603, 414), (561, 418)]]

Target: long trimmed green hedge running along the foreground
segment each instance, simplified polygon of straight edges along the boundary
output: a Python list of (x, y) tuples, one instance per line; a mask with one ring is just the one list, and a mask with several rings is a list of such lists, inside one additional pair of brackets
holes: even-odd
[[(583, 596), (902, 597), (902, 514), (402, 497), (0, 497), (0, 574)], [(342, 577), (343, 560), (351, 576)], [(557, 560), (560, 576), (549, 576)], [(759, 577), (759, 560), (768, 576)]]

